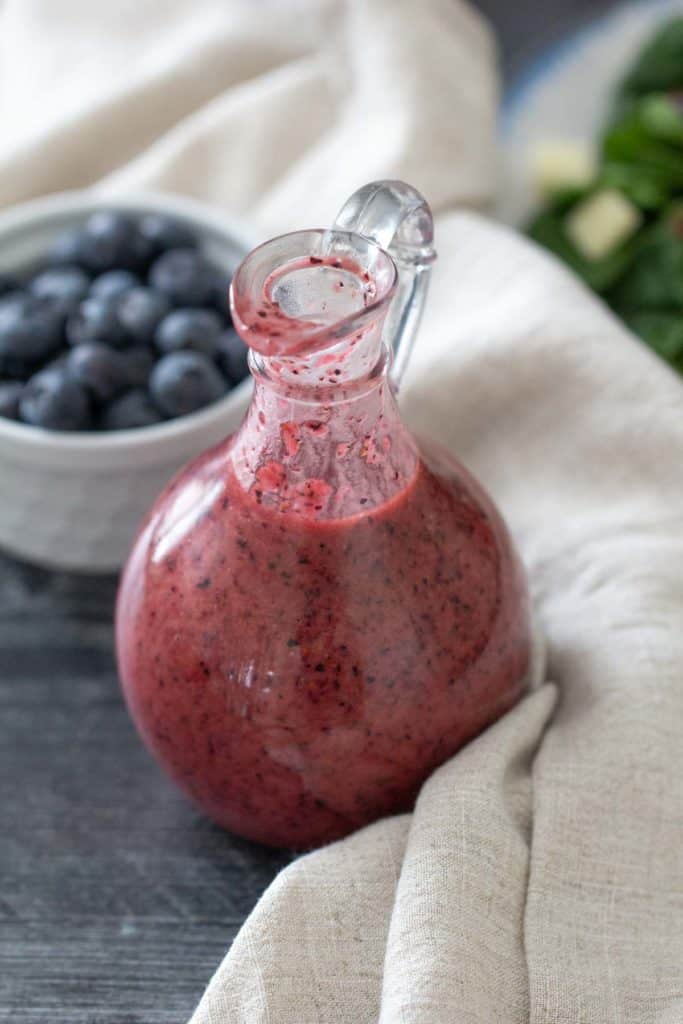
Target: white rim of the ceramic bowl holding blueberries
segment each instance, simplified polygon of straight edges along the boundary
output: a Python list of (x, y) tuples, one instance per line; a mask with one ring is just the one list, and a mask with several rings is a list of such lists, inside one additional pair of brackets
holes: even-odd
[[(103, 207), (134, 212), (175, 214), (194, 221), (201, 228), (226, 236), (228, 240), (234, 242), (236, 248), (243, 248), (245, 254), (254, 247), (254, 232), (244, 221), (226, 214), (220, 207), (214, 207), (201, 200), (173, 193), (144, 189), (109, 195), (105, 190), (94, 188), (52, 193), (1, 210), (0, 246), (8, 234), (16, 233), (29, 226), (40, 222), (49, 224), (52, 220), (69, 220), (70, 216), (87, 215)], [(101, 433), (85, 430), (59, 432), (0, 417), (0, 441), (8, 440), (14, 444), (39, 449), (44, 453), (51, 451), (63, 454), (79, 452), (106, 454), (120, 452), (133, 444), (136, 447), (143, 444), (165, 444), (185, 435), (191, 435), (195, 431), (201, 431), (214, 421), (220, 420), (230, 408), (244, 401), (251, 385), (251, 377), (248, 377), (218, 401), (212, 402), (205, 409), (155, 426), (134, 427), (129, 430), (110, 430)]]

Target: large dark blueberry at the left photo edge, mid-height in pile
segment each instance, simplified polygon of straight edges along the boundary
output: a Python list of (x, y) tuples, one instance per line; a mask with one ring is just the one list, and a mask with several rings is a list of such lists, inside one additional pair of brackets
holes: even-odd
[(0, 302), (0, 358), (46, 359), (60, 347), (62, 329), (58, 303), (12, 292)]

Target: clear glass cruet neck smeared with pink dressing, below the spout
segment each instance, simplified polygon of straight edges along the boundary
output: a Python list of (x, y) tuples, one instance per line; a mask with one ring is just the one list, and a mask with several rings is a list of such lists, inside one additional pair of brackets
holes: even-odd
[[(367, 339), (359, 348), (368, 351)], [(318, 520), (372, 512), (410, 483), (418, 465), (384, 352), (369, 374), (355, 376), (357, 366), (353, 376), (338, 374), (331, 360), (329, 373), (316, 368), (314, 382), (301, 361), (252, 360), (254, 395), (230, 449), (234, 474), (273, 511)]]

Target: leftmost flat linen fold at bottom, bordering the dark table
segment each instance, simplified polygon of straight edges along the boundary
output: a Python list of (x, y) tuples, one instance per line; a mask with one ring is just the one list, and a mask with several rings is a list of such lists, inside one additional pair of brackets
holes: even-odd
[(285, 868), (190, 1024), (377, 1021), (409, 826), (407, 815), (389, 818)]

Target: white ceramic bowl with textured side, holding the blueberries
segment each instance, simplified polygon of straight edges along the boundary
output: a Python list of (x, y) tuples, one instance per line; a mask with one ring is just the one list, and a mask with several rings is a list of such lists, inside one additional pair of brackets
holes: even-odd
[[(0, 214), (0, 270), (37, 261), (60, 230), (103, 207), (186, 220), (221, 264), (237, 266), (252, 247), (242, 225), (194, 200), (62, 193)], [(70, 434), (0, 417), (0, 547), (51, 568), (118, 569), (164, 484), (234, 430), (250, 391), (244, 381), (199, 413), (140, 430)]]

